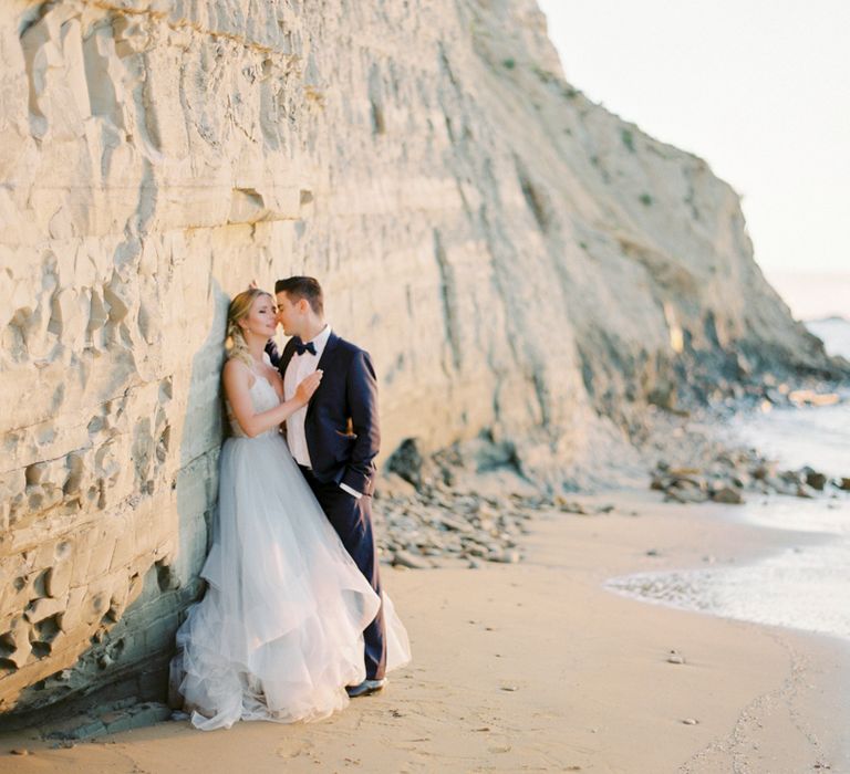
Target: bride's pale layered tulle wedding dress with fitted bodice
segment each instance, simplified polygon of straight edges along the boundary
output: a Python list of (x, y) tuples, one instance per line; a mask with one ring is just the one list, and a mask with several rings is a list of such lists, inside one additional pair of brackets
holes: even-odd
[[(256, 375), (255, 411), (280, 400)], [(343, 708), (365, 678), (363, 629), (379, 597), (340, 542), (277, 430), (248, 438), (232, 418), (221, 450), (208, 588), (177, 631), (172, 684), (204, 730), (283, 723)], [(387, 669), (410, 660), (384, 595)]]

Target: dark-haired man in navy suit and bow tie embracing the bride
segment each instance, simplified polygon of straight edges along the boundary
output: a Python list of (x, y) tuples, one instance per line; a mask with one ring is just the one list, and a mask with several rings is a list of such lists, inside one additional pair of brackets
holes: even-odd
[[(278, 323), (291, 338), (280, 354), (273, 342), (266, 349), (283, 377), (284, 398), (292, 398), (304, 377), (317, 369), (323, 372), (322, 384), (308, 406), (287, 419), (289, 449), (345, 550), (380, 595), (372, 492), (381, 435), (372, 360), (324, 322), (322, 289), (313, 278), (278, 280), (274, 295)], [(346, 687), (350, 697), (374, 693), (384, 687), (383, 604), (363, 632), (363, 640), (366, 679)]]

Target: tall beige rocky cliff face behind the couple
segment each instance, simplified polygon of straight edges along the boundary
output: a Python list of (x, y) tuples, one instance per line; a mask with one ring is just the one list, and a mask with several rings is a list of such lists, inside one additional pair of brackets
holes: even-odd
[(556, 484), (686, 380), (829, 368), (735, 192), (567, 84), (531, 0), (12, 0), (0, 62), (0, 710), (167, 658), (253, 278), (323, 281), (385, 452)]

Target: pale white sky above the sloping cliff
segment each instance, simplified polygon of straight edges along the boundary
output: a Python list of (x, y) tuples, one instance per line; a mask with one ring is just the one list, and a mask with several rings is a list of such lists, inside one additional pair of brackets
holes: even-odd
[(768, 276), (850, 274), (850, 0), (539, 0), (567, 80), (744, 197)]

